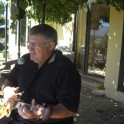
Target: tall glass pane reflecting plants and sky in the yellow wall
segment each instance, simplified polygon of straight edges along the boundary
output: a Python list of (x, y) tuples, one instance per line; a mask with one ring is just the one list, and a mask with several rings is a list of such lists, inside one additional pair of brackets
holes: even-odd
[(105, 76), (109, 31), (109, 6), (91, 6), (91, 28), (88, 56), (88, 73)]

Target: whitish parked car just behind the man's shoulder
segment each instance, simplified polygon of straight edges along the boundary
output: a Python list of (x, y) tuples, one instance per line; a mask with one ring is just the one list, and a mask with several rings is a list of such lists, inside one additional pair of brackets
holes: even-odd
[(65, 55), (67, 58), (69, 58), (72, 62), (74, 62), (75, 59), (75, 52), (73, 52), (69, 47), (57, 45), (56, 49), (62, 51), (63, 55)]

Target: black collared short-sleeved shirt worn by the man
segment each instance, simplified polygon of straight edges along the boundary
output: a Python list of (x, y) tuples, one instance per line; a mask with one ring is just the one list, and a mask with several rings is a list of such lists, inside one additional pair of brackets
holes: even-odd
[(29, 54), (23, 57), (25, 63), (16, 64), (7, 79), (25, 91), (24, 96), (28, 98), (24, 101), (31, 102), (34, 98), (41, 105), (62, 103), (70, 111), (77, 112), (81, 78), (74, 64), (60, 51), (55, 51), (40, 69), (30, 60)]

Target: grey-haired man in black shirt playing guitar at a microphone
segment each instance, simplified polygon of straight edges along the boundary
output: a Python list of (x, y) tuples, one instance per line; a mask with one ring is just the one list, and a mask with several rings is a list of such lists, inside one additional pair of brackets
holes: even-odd
[[(2, 86), (8, 102), (32, 103), (33, 109), (22, 104), (16, 114), (12, 111), (15, 124), (73, 124), (81, 78), (73, 63), (55, 50), (56, 44), (57, 32), (51, 26), (40, 24), (29, 30), (25, 63), (16, 64)], [(21, 98), (17, 92), (24, 92)]]

